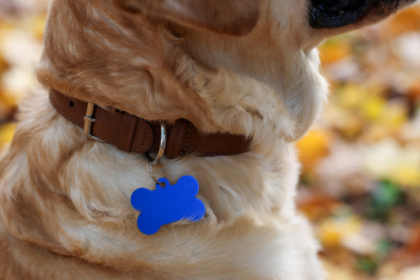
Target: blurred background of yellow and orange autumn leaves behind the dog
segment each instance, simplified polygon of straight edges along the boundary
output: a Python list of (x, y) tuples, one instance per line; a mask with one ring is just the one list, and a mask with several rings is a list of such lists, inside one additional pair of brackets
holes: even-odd
[[(40, 88), (48, 0), (0, 0), (0, 149)], [(320, 47), (329, 103), (298, 143), (300, 210), (332, 280), (420, 279), (420, 5)]]

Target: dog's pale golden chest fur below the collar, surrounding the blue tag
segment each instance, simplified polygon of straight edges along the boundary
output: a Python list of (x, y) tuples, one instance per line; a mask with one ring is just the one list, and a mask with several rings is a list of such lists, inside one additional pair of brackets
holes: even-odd
[[(3, 228), (2, 240), (13, 241), (4, 261), (13, 259), (18, 271), (27, 273), (25, 279), (43, 279), (46, 273), (73, 279), (75, 266), (77, 273), (86, 270), (81, 275), (95, 271), (94, 279), (96, 271), (108, 272), (104, 265), (119, 271), (105, 273), (109, 279), (119, 273), (128, 277), (124, 271), (144, 279), (149, 273), (176, 279), (228, 279), (242, 273), (243, 279), (260, 279), (266, 274), (270, 279), (282, 270), (292, 273), (283, 265), (289, 258), (316, 265), (310, 253), (315, 243), (294, 211), (297, 164), (292, 147), (279, 146), (270, 161), (244, 154), (164, 162), (168, 179), (185, 174), (198, 179), (207, 214), (199, 224), (181, 222), (147, 237), (138, 232), (129, 203), (136, 188), (153, 186), (144, 159), (86, 140), (44, 94), (28, 99), (20, 118), (2, 161), (1, 214), (8, 232), (24, 240)], [(82, 262), (59, 261), (63, 257), (46, 249)], [(27, 271), (38, 258), (42, 265)], [(56, 262), (62, 269), (51, 269)]]

